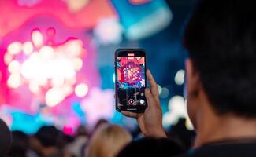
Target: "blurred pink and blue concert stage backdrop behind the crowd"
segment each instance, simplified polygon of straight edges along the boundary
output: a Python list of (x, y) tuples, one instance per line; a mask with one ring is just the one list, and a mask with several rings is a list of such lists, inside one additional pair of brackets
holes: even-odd
[[(0, 1), (0, 118), (35, 133), (72, 134), (99, 119), (136, 128), (115, 111), (113, 53), (143, 48), (159, 84), (165, 126), (187, 117), (180, 44), (190, 1)], [(183, 8), (183, 9), (180, 9)], [(185, 9), (184, 9), (185, 8)]]

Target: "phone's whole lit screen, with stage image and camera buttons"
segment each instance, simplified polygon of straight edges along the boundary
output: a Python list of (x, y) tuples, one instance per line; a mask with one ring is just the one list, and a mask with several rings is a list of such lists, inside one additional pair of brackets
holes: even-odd
[(145, 57), (127, 53), (117, 57), (117, 94), (118, 105), (145, 105), (146, 88)]

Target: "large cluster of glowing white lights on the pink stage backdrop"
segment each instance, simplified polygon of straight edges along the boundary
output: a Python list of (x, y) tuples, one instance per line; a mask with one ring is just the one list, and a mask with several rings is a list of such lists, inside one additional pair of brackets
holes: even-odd
[[(83, 42), (78, 39), (56, 46), (43, 45), (43, 41), (43, 34), (35, 30), (32, 31), (34, 46), (29, 41), (9, 44), (5, 55), (10, 74), (7, 85), (18, 88), (22, 84), (28, 84), (32, 93), (40, 94), (45, 98), (46, 104), (53, 107), (72, 94), (76, 72), (83, 67), (80, 57), (85, 50)], [(87, 85), (76, 86), (78, 97), (85, 96), (87, 92)]]

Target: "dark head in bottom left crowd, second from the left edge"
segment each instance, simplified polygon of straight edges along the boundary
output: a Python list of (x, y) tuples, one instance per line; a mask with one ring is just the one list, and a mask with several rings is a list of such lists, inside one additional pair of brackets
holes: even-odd
[(28, 151), (28, 136), (21, 131), (13, 131), (13, 142), (8, 152), (8, 156), (25, 157)]

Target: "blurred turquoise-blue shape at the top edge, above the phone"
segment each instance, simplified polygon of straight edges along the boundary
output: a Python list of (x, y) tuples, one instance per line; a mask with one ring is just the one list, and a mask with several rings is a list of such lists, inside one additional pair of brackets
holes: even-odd
[(173, 13), (164, 0), (112, 0), (111, 2), (119, 13), (124, 35), (130, 40), (150, 37), (163, 30), (173, 20)]

